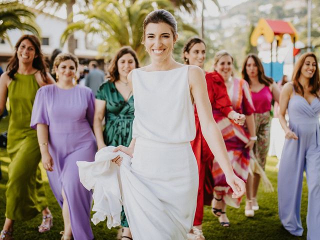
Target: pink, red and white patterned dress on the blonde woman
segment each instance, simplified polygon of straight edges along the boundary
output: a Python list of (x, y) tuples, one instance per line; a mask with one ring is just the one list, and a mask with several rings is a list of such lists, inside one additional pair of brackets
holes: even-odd
[[(250, 115), (254, 112), (251, 93), (245, 80), (234, 78), (233, 84), (228, 89), (228, 95), (232, 102), (232, 108), (236, 112), (245, 115)], [(249, 134), (246, 128), (234, 123), (219, 111), (214, 111), (213, 117), (221, 130), (235, 174), (246, 181), (250, 162), (249, 148), (244, 148), (249, 140)], [(213, 160), (212, 174), (214, 191), (222, 196), (226, 204), (239, 207), (241, 198), (232, 198), (233, 191), (226, 183), (225, 175), (215, 159)]]

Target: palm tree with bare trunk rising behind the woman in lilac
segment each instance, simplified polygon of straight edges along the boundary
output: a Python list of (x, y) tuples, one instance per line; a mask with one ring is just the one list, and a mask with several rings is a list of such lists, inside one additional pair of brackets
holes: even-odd
[[(76, 3), (75, 0), (34, 0), (34, 6), (42, 10), (45, 7), (54, 9), (55, 11), (59, 10), (61, 7), (66, 6), (66, 23), (73, 23), (73, 5)], [(85, 0), (87, 4), (89, 0)], [(75, 39), (73, 34), (68, 36), (68, 51), (74, 54), (75, 50)]]

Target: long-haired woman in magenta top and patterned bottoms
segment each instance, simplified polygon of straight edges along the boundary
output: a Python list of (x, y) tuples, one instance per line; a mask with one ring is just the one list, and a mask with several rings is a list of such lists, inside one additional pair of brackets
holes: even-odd
[[(254, 122), (257, 137), (253, 152), (264, 169), (270, 141), (271, 101), (273, 99), (279, 102), (280, 89), (271, 77), (264, 74), (262, 62), (254, 53), (249, 53), (244, 59), (242, 78), (249, 84), (255, 108)], [(259, 182), (260, 175), (257, 173), (253, 176), (249, 175), (246, 182), (247, 200), (250, 201), (253, 210), (259, 209), (256, 199)]]

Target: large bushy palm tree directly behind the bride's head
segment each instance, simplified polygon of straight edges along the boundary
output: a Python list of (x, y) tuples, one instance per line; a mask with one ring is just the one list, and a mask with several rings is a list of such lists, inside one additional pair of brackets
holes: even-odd
[[(173, 11), (168, 0), (93, 0), (92, 9), (82, 12), (85, 20), (69, 24), (61, 36), (63, 44), (68, 36), (76, 30), (100, 34), (104, 42), (98, 47), (104, 56), (110, 56), (118, 47), (130, 45), (142, 61), (146, 52), (140, 43), (141, 25), (144, 17), (155, 8)], [(196, 33), (197, 31), (180, 22), (180, 28)]]

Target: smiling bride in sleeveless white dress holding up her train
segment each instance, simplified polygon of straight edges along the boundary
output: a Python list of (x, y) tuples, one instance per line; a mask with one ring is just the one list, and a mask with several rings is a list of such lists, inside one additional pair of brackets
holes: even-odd
[[(190, 146), (195, 136), (193, 102), (203, 136), (234, 191), (233, 197), (245, 191), (244, 182), (232, 170), (213, 119), (203, 71), (172, 58), (176, 40), (177, 25), (171, 13), (160, 9), (145, 17), (142, 43), (151, 64), (134, 69), (128, 75), (134, 94), (133, 139), (129, 147), (117, 146), (112, 149), (113, 153), (110, 147), (101, 149), (95, 159), (98, 161), (103, 156), (103, 162), (107, 158), (120, 166), (119, 200), (123, 202), (134, 240), (184, 240), (192, 227), (198, 188), (198, 169)], [(114, 166), (114, 163), (107, 164), (110, 169)], [(95, 167), (101, 170), (101, 165)], [(96, 206), (93, 210), (100, 214), (95, 219), (108, 216), (109, 227), (117, 224), (121, 208), (110, 203), (114, 195), (119, 195), (114, 190), (117, 177), (104, 178), (107, 182), (103, 182), (101, 190), (102, 187), (93, 186), (94, 170), (89, 165), (82, 168), (86, 171), (80, 173), (82, 183), (87, 188), (94, 187)], [(89, 186), (88, 181), (93, 185)], [(112, 194), (101, 196), (108, 186), (113, 189)], [(104, 206), (98, 203), (106, 198), (108, 202), (104, 202)], [(105, 212), (101, 210), (103, 207)]]

